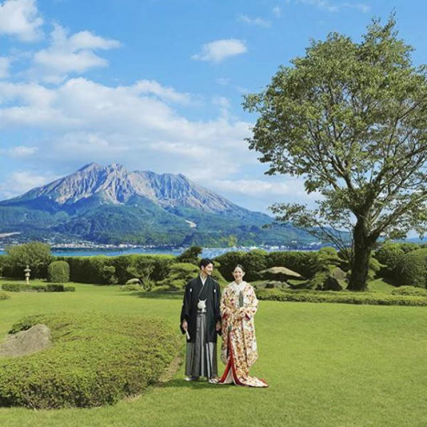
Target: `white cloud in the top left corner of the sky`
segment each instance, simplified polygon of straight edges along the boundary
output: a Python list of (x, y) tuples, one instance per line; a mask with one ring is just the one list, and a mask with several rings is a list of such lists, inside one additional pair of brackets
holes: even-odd
[(42, 24), (36, 0), (6, 0), (0, 4), (0, 34), (33, 42), (43, 36)]

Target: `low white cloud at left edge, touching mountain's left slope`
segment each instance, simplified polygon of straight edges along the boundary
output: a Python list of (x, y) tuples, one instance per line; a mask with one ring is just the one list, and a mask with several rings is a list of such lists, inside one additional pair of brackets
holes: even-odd
[(48, 182), (55, 181), (59, 176), (54, 174), (41, 175), (34, 171), (19, 170), (13, 172), (0, 183), (0, 199), (11, 199), (21, 196), (35, 187), (43, 186)]

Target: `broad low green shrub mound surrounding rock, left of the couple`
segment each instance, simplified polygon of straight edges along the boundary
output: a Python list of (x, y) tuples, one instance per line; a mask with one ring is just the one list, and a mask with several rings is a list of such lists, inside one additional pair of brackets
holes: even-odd
[(28, 408), (114, 404), (158, 381), (181, 345), (161, 319), (70, 314), (26, 317), (11, 332), (43, 323), (53, 345), (0, 359), (0, 405)]

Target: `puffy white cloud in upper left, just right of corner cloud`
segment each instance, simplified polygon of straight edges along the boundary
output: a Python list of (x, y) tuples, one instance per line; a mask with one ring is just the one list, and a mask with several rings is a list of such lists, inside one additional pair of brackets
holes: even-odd
[(95, 36), (89, 31), (68, 37), (65, 29), (56, 24), (51, 33), (51, 46), (34, 54), (30, 74), (46, 82), (60, 83), (69, 73), (82, 74), (91, 68), (107, 66), (107, 60), (94, 51), (119, 46), (118, 41)]

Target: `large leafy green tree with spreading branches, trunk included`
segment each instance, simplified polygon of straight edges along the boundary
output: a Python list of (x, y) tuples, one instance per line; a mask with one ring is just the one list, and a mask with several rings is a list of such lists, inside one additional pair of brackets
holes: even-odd
[(319, 193), (315, 209), (273, 212), (337, 244), (347, 229), (351, 290), (366, 287), (380, 236), (427, 230), (427, 78), (411, 51), (394, 15), (372, 21), (360, 43), (330, 33), (243, 104), (259, 115), (249, 144), (266, 173), (300, 176)]

